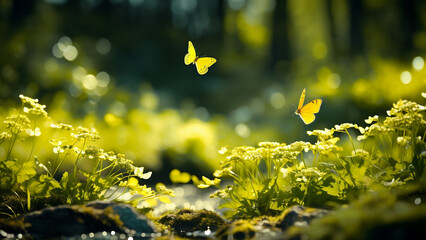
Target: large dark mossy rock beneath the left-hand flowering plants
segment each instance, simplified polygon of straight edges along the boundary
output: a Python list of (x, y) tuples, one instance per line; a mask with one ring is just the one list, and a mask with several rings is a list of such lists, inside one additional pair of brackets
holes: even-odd
[(154, 233), (154, 224), (127, 204), (95, 201), (86, 205), (61, 205), (13, 219), (0, 219), (0, 229), (37, 238), (83, 233)]

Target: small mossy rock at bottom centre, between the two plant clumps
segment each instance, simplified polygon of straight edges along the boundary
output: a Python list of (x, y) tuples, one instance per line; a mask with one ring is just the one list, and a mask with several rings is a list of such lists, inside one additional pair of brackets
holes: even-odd
[(185, 236), (186, 233), (195, 231), (216, 231), (225, 224), (225, 220), (217, 213), (208, 210), (180, 209), (176, 213), (161, 217), (159, 223), (177, 235)]

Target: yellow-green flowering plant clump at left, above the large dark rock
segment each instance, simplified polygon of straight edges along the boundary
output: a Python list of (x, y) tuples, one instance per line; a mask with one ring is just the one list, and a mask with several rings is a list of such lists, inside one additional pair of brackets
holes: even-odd
[[(134, 166), (124, 154), (97, 148), (94, 144), (100, 137), (96, 129), (53, 123), (45, 105), (37, 99), (20, 98), (22, 108), (7, 117), (0, 133), (0, 147), (5, 150), (0, 151), (0, 192), (26, 195), (25, 210), (31, 210), (31, 201), (53, 196), (64, 204), (115, 199), (136, 205), (155, 199), (168, 202), (167, 196), (174, 195), (163, 184), (157, 185), (157, 191), (140, 185), (139, 179), (150, 178), (151, 172)], [(39, 159), (34, 153), (41, 128), (55, 130), (48, 137), (52, 145), (48, 159)], [(20, 142), (29, 142), (30, 148), (17, 146)], [(71, 163), (72, 170), (66, 171), (65, 163)], [(3, 214), (15, 215), (16, 209), (9, 209), (10, 213)]]

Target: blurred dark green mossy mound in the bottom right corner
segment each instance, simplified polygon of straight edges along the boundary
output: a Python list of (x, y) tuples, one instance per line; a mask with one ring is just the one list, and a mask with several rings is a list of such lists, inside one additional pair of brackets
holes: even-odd
[(413, 196), (425, 199), (423, 189), (419, 184), (408, 191), (369, 192), (309, 226), (289, 228), (286, 234), (313, 240), (417, 239), (424, 235), (426, 205), (416, 205)]

